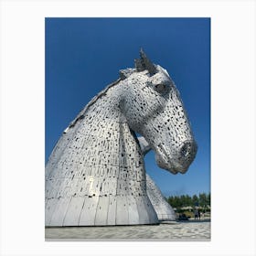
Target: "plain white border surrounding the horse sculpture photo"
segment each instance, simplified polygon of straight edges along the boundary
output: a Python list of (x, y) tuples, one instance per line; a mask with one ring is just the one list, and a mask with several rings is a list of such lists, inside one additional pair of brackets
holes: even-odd
[[(1, 255), (255, 255), (254, 1), (6, 0), (0, 7)], [(44, 240), (46, 16), (211, 17), (210, 242)]]

